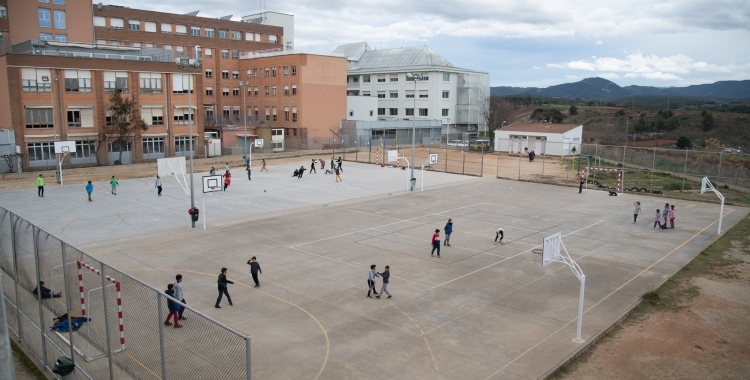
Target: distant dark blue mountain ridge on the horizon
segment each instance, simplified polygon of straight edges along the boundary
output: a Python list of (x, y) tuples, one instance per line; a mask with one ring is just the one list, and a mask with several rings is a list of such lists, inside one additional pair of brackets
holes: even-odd
[(580, 82), (558, 84), (547, 88), (539, 87), (491, 87), (490, 94), (538, 95), (581, 99), (620, 99), (632, 96), (689, 96), (710, 99), (738, 100), (750, 99), (750, 80), (721, 81), (688, 87), (626, 86), (604, 78), (586, 78)]

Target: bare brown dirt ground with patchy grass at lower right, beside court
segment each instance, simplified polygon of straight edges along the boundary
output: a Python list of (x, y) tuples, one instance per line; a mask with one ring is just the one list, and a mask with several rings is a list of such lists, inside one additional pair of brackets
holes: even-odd
[[(641, 310), (553, 378), (747, 379), (748, 226), (750, 217), (736, 226), (741, 231), (727, 233), (713, 268), (688, 265), (668, 284), (670, 290), (644, 301)], [(696, 260), (711, 255), (712, 247)]]

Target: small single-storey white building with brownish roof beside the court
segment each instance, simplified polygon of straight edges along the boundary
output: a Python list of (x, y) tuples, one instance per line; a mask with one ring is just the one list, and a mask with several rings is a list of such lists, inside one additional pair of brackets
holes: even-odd
[[(583, 125), (515, 123), (495, 130), (495, 151), (548, 154), (553, 156), (581, 152)], [(573, 151), (575, 149), (575, 152)]]

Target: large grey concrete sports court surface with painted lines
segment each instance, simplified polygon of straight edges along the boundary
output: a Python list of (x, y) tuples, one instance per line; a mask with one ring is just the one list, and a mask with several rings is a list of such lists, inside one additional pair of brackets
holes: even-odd
[[(191, 306), (252, 337), (256, 379), (539, 378), (582, 347), (572, 342), (578, 280), (533, 260), (545, 236), (562, 232), (586, 274), (585, 340), (718, 237), (719, 207), (708, 203), (677, 201), (676, 228), (664, 231), (652, 228), (661, 198), (438, 172), (412, 193), (398, 169), (345, 162), (336, 183), (320, 170), (293, 178), (295, 167), (255, 168), (252, 181), (235, 169), (227, 192), (206, 194), (205, 210), (198, 193), (206, 231), (202, 219), (189, 228), (173, 178), (162, 197), (144, 178), (121, 181), (116, 196), (97, 183), (92, 203), (71, 185), (44, 198), (0, 193), (0, 206), (157, 288), (182, 273)], [(726, 230), (748, 209), (724, 212)], [(442, 235), (448, 218), (452, 246), (431, 257), (432, 232)], [(506, 242), (495, 245), (498, 227)], [(370, 264), (391, 267), (393, 298), (366, 298)], [(221, 267), (235, 281), (234, 306), (215, 309)], [(124, 313), (137, 312), (127, 297)], [(180, 332), (189, 334), (187, 316)]]

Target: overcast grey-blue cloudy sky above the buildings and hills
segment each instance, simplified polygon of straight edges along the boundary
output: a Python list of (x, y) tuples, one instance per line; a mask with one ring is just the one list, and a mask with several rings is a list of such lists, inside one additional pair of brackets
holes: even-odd
[(427, 45), (493, 86), (600, 76), (621, 86), (750, 79), (748, 0), (111, 0), (204, 17), (295, 15), (295, 46)]

